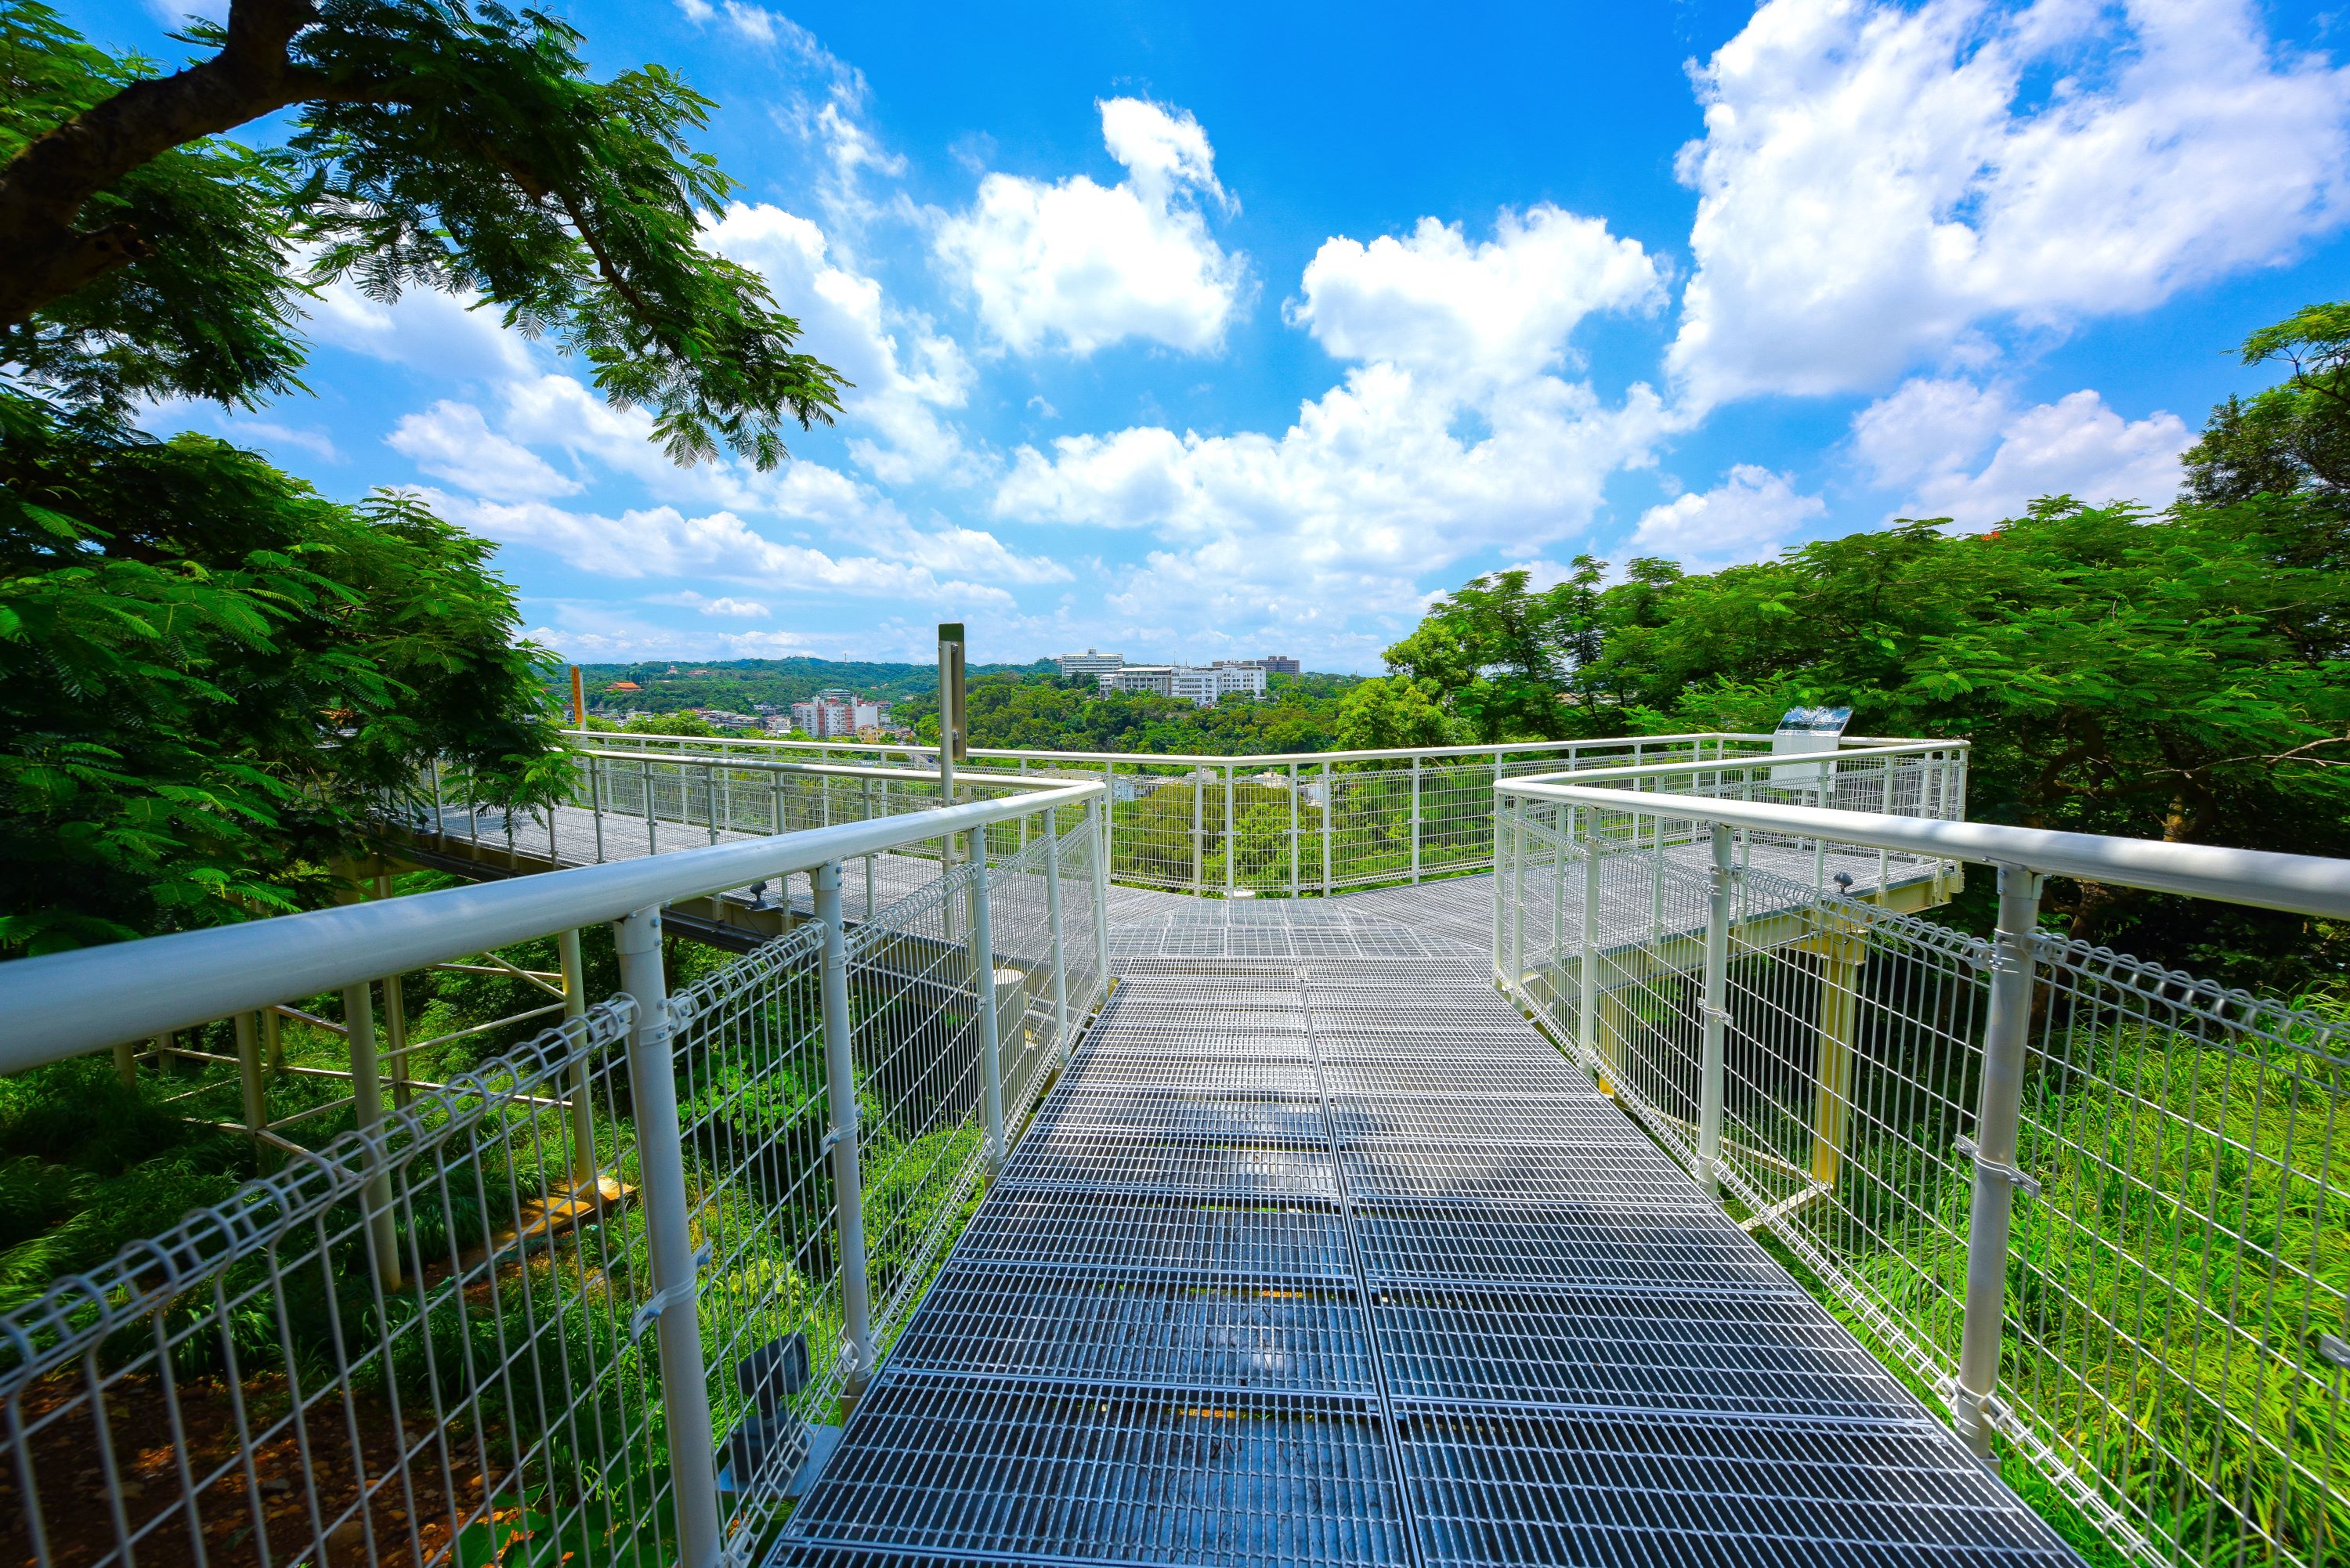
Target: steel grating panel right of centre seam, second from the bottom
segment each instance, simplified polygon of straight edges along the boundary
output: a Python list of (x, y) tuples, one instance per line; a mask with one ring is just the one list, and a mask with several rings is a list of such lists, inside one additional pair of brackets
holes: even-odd
[(1389, 1286), (1372, 1321), (1398, 1399), (1932, 1427), (1925, 1406), (1798, 1291)]

